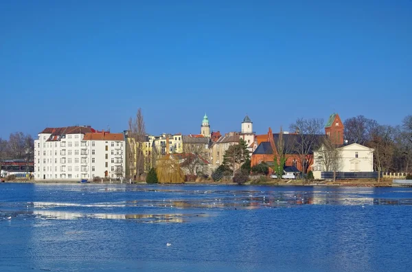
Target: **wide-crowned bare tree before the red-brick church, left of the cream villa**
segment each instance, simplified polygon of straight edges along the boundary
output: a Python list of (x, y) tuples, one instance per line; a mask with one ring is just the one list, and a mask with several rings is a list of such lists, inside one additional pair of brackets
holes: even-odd
[(293, 151), (299, 156), (299, 162), (301, 163), (302, 172), (306, 173), (308, 167), (312, 163), (312, 153), (315, 148), (321, 146), (321, 139), (325, 137), (321, 134), (323, 128), (323, 119), (312, 118), (304, 119), (299, 118), (294, 124), (290, 125), (290, 130), (297, 133), (295, 137), (295, 143), (293, 143)]

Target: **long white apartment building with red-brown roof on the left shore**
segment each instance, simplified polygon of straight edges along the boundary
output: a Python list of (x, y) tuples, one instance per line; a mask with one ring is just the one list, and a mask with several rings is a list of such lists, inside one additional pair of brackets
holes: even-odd
[(34, 178), (124, 177), (125, 148), (123, 133), (90, 126), (45, 128), (34, 141)]

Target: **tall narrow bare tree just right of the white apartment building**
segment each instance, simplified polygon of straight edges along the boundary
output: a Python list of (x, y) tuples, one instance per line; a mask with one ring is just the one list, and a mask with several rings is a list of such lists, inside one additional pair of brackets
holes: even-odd
[(136, 118), (129, 118), (128, 133), (130, 133), (129, 146), (129, 169), (130, 176), (137, 179), (144, 172), (144, 142), (146, 141), (146, 126), (141, 108), (137, 109)]

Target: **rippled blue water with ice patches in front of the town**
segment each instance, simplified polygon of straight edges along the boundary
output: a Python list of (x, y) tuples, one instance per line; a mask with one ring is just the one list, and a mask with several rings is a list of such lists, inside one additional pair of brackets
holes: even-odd
[(0, 271), (412, 271), (412, 189), (0, 184)]

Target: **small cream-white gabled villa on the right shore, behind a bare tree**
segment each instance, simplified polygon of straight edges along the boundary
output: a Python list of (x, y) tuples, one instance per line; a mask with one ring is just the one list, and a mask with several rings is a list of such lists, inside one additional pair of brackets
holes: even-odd
[[(373, 148), (361, 144), (349, 144), (339, 149), (341, 150), (339, 172), (374, 172)], [(312, 165), (314, 171), (325, 171), (321, 156), (321, 152), (314, 152)]]

